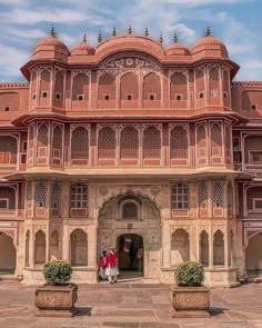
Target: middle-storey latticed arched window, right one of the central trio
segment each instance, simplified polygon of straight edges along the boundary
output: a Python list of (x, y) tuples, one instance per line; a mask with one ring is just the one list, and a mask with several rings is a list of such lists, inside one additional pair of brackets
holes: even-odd
[(159, 129), (149, 127), (143, 131), (143, 158), (161, 157), (161, 136)]

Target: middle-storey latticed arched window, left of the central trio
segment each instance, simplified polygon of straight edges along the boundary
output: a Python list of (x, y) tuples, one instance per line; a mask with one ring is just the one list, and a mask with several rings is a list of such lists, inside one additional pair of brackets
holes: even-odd
[(89, 159), (89, 131), (83, 127), (72, 132), (71, 159)]

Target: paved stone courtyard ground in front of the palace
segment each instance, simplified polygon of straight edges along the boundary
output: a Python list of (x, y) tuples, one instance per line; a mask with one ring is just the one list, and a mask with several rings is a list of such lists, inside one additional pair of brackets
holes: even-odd
[[(213, 289), (211, 317), (172, 319), (168, 286), (105, 282), (79, 286), (74, 318), (36, 318), (34, 287), (0, 281), (0, 328), (262, 328), (262, 284)], [(91, 308), (91, 316), (88, 316)]]

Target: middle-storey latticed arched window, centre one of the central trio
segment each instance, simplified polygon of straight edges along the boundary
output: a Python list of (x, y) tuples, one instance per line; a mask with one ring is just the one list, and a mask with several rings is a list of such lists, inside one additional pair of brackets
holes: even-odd
[(121, 131), (120, 157), (127, 159), (139, 158), (139, 132), (132, 127)]

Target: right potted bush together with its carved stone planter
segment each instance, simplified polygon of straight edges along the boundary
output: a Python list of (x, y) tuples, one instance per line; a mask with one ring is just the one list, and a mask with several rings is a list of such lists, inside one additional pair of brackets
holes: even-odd
[(210, 289), (202, 285), (202, 266), (198, 262), (178, 265), (174, 278), (177, 286), (170, 287), (172, 317), (209, 317)]

